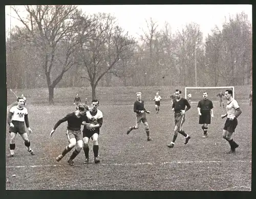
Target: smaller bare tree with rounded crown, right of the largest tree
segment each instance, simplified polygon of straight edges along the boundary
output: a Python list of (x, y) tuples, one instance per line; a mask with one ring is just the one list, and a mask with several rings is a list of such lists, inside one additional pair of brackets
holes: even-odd
[(89, 37), (81, 32), (80, 51), (85, 78), (90, 81), (92, 98), (96, 97), (96, 87), (106, 73), (111, 72), (117, 62), (125, 56), (126, 46), (134, 45), (128, 34), (117, 26), (116, 19), (110, 14), (99, 13), (91, 16), (93, 28)]

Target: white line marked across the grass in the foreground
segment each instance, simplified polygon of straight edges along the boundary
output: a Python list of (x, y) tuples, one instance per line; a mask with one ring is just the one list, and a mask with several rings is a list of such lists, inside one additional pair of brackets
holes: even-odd
[[(138, 166), (138, 165), (165, 165), (165, 164), (197, 164), (197, 163), (223, 163), (223, 162), (251, 162), (246, 160), (233, 160), (233, 161), (186, 161), (186, 162), (141, 162), (141, 163), (113, 163), (113, 164), (98, 164), (102, 166)], [(56, 166), (66, 166), (66, 165), (56, 165), (56, 164), (48, 164), (48, 165), (24, 165), (24, 166), (6, 166), (6, 168), (25, 168), (25, 167), (56, 167)], [(83, 165), (74, 165), (74, 166), (83, 166)]]

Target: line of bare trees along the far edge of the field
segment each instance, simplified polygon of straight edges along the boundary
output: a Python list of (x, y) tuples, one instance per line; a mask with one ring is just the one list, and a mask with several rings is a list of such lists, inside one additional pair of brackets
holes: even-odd
[(7, 87), (236, 86), (252, 81), (252, 27), (245, 13), (229, 17), (203, 40), (200, 26), (172, 32), (145, 20), (135, 39), (111, 14), (77, 6), (25, 6), (27, 16), (6, 40)]

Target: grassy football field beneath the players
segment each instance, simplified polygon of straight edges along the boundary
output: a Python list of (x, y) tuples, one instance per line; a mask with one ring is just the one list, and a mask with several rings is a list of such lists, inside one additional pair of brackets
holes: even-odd
[[(18, 94), (28, 95), (33, 130), (29, 138), (36, 155), (31, 156), (17, 136), (16, 156), (6, 158), (6, 189), (250, 191), (252, 113), (248, 103), (240, 103), (243, 113), (233, 135), (233, 139), (240, 144), (236, 155), (225, 154), (229, 145), (222, 139), (225, 120), (220, 118), (225, 109), (220, 108), (218, 103), (214, 104), (215, 117), (207, 139), (202, 138), (197, 104), (193, 103), (186, 113), (183, 127), (191, 139), (184, 145), (184, 138), (179, 135), (175, 147), (170, 149), (166, 144), (173, 137), (174, 119), (167, 99), (161, 104), (157, 115), (154, 103), (146, 101), (146, 108), (152, 111), (147, 114), (152, 142), (146, 141), (143, 125), (126, 135), (127, 128), (135, 124), (134, 92), (141, 90), (148, 99), (154, 95), (154, 89), (157, 90), (128, 87), (115, 91), (113, 88), (100, 88), (99, 109), (104, 117), (98, 140), (101, 162), (94, 164), (90, 142), (90, 163), (82, 164), (84, 153), (81, 152), (74, 160), (75, 166), (67, 163), (71, 153), (60, 162), (55, 161), (68, 144), (65, 136), (67, 124), (62, 123), (51, 139), (49, 134), (59, 118), (75, 109), (72, 106), (73, 92), (78, 92), (78, 88), (56, 89), (53, 106), (47, 105), (47, 90), (18, 90)], [(162, 95), (168, 97), (170, 92), (167, 91), (167, 88), (162, 88)], [(247, 98), (248, 92), (245, 93)], [(8, 102), (11, 102), (13, 97), (9, 92), (8, 97)], [(65, 98), (63, 104), (62, 98)], [(6, 151), (9, 154), (8, 131)]]

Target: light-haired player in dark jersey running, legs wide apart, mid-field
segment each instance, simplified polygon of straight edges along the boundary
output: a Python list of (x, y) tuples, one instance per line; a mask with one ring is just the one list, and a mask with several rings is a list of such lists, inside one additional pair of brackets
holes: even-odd
[(145, 125), (145, 131), (147, 136), (147, 141), (152, 141), (152, 138), (150, 137), (150, 128), (148, 127), (147, 119), (146, 119), (146, 113), (150, 113), (150, 111), (146, 111), (144, 108), (144, 101), (141, 100), (141, 92), (136, 93), (137, 100), (134, 103), (133, 111), (136, 113), (136, 125), (133, 127), (129, 127), (129, 130), (126, 132), (128, 135), (133, 129), (139, 129), (140, 122), (143, 122)]

